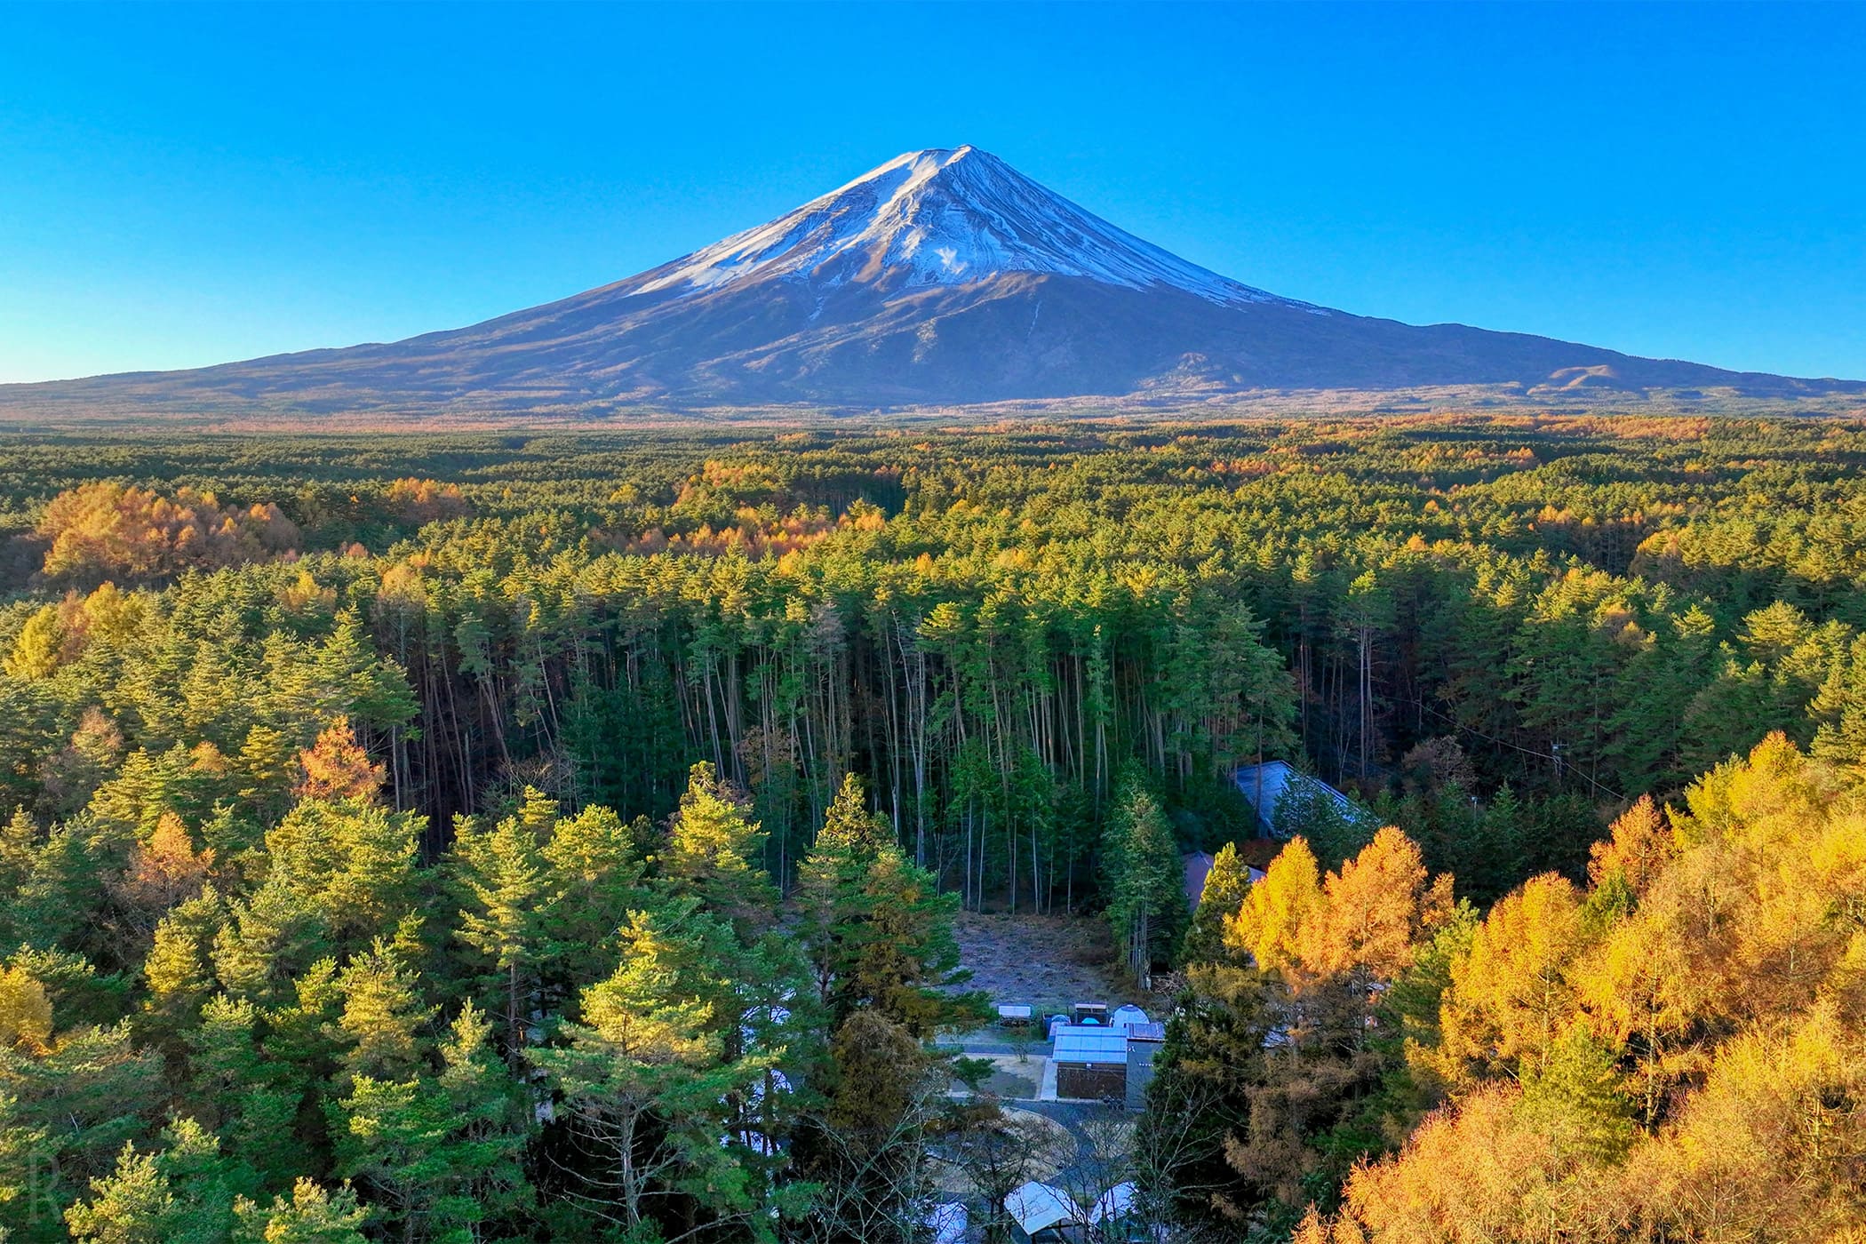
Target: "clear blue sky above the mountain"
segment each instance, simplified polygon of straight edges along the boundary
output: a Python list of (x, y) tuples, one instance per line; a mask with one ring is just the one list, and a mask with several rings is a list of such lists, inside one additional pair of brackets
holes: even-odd
[(0, 380), (450, 328), (974, 144), (1276, 293), (1866, 377), (1866, 6), (0, 7)]

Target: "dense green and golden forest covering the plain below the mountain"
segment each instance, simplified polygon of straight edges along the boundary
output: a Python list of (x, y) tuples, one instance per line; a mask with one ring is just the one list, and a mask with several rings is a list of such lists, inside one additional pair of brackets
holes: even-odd
[(1138, 1238), (1866, 1238), (1862, 464), (9, 436), (0, 1238), (1010, 1238), (961, 912), (1161, 990)]

